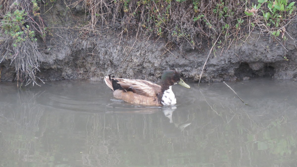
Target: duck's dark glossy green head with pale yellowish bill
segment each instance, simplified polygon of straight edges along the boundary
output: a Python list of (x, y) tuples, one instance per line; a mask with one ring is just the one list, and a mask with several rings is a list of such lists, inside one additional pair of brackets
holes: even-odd
[(162, 84), (166, 84), (168, 86), (179, 84), (185, 88), (191, 88), (181, 79), (181, 74), (175, 70), (166, 70), (161, 77), (161, 82)]

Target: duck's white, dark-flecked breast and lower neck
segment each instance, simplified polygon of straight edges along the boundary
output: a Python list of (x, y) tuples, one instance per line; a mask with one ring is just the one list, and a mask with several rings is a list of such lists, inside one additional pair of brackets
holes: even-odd
[(172, 85), (171, 86), (162, 85), (161, 93), (159, 94), (159, 100), (162, 103), (162, 105), (176, 104), (176, 98), (171, 88), (172, 88)]

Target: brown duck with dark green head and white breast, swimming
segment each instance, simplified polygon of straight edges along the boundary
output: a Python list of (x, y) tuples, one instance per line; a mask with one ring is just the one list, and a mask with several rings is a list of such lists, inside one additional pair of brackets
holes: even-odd
[(174, 105), (176, 98), (172, 92), (172, 85), (179, 84), (191, 88), (181, 79), (175, 70), (166, 70), (161, 77), (161, 86), (145, 80), (122, 79), (105, 76), (105, 83), (113, 91), (113, 96), (128, 103), (141, 105)]

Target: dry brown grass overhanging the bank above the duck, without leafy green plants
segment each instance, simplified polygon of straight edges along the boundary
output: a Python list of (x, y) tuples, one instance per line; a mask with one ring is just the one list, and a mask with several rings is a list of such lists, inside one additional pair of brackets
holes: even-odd
[(78, 0), (76, 3), (82, 3), (89, 13), (88, 24), (82, 31), (103, 35), (121, 29), (120, 37), (137, 32), (138, 36), (165, 37), (180, 48), (184, 42), (199, 48), (202, 39), (215, 41), (221, 31), (223, 41), (230, 36), (237, 38), (236, 19), (244, 12), (246, 1)]

